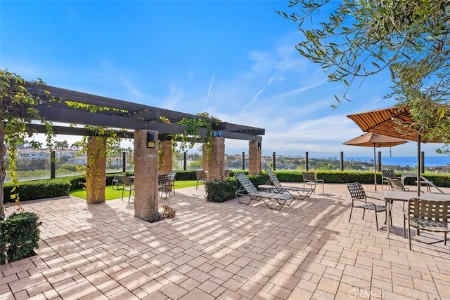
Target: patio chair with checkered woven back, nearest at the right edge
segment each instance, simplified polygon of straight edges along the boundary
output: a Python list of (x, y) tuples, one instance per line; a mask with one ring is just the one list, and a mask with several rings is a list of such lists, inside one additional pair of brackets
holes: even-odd
[[(404, 210), (404, 220), (408, 221), (409, 250), (411, 249), (411, 227), (420, 230), (443, 232), (444, 245), (447, 241), (450, 217), (450, 200), (425, 200), (422, 198), (412, 198), (408, 200), (408, 207)], [(406, 229), (406, 224), (404, 224)]]

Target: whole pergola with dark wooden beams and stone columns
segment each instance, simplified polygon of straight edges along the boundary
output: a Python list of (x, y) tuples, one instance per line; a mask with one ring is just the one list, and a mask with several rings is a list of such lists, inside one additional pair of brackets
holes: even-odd
[[(172, 142), (168, 136), (184, 134), (186, 127), (176, 124), (183, 118), (210, 121), (212, 129), (221, 132), (220, 135), (212, 137), (212, 157), (210, 158), (212, 162), (205, 163), (205, 156), (203, 159), (203, 168), (209, 169), (210, 175), (212, 175), (210, 179), (223, 178), (224, 139), (248, 140), (249, 172), (252, 174), (261, 172), (261, 135), (265, 133), (263, 128), (227, 122), (215, 123), (217, 120), (214, 118), (184, 114), (179, 111), (160, 109), (36, 83), (26, 82), (24, 86), (39, 99), (39, 103), (34, 108), (39, 111), (39, 116), (47, 121), (113, 128), (119, 137), (134, 139), (134, 212), (136, 217), (148, 219), (155, 212), (158, 212), (158, 146), (155, 148), (148, 146), (149, 133), (162, 141), (164, 151), (165, 143), (169, 144), (169, 151), (165, 151), (165, 155), (170, 156), (170, 162), (172, 162)], [(83, 104), (84, 108), (75, 109), (68, 102)], [(93, 112), (86, 109), (89, 106), (102, 107), (103, 109)], [(21, 107), (21, 109), (23, 116), (27, 116), (26, 107)], [(165, 121), (162, 121), (162, 119)], [(27, 124), (27, 126), (34, 132), (46, 132), (44, 125)], [(92, 135), (89, 130), (70, 126), (53, 126), (53, 132), (56, 135), (89, 137)], [(199, 133), (203, 138), (210, 134), (206, 128), (199, 128)], [(94, 141), (96, 137), (90, 137), (90, 139)], [(90, 143), (91, 148), (88, 146), (88, 161), (90, 161), (89, 155), (97, 159), (97, 165), (89, 165), (88, 168), (88, 170), (96, 169), (95, 174), (92, 172), (90, 175), (86, 174), (88, 203), (98, 203), (105, 200), (105, 166), (102, 166), (105, 165), (105, 158), (98, 157), (98, 149), (95, 148), (96, 146), (92, 146), (94, 144), (94, 142)], [(170, 164), (170, 167), (172, 167), (172, 164)], [(103, 191), (103, 199), (101, 191)], [(91, 200), (89, 195), (91, 195)]]

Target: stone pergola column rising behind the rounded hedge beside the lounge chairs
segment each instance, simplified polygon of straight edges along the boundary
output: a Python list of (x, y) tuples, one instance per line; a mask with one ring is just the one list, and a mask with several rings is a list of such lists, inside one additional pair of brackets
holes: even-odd
[[(203, 157), (207, 153), (203, 147)], [(210, 160), (207, 161), (208, 180), (222, 180), (224, 179), (225, 172), (225, 138), (224, 137), (212, 137)]]

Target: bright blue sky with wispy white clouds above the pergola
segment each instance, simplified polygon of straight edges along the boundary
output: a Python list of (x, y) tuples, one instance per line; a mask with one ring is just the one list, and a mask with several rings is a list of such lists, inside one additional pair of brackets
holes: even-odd
[[(347, 114), (390, 107), (388, 74), (353, 86), (328, 83), (295, 44), (288, 1), (0, 1), (0, 68), (50, 86), (162, 107), (207, 111), (266, 129), (263, 155), (372, 156), (345, 146), (363, 132)], [(57, 140), (75, 142), (79, 137)], [(435, 155), (438, 144), (422, 146)], [(377, 149), (383, 156), (389, 148)], [(226, 140), (226, 153), (248, 141)], [(416, 143), (392, 148), (416, 156)], [(449, 158), (445, 158), (449, 159)]]

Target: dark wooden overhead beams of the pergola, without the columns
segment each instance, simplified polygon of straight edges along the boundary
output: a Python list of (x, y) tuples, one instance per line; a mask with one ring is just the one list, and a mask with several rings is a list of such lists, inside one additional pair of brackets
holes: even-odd
[[(160, 133), (170, 135), (184, 132), (185, 127), (176, 124), (182, 118), (201, 118), (212, 123), (215, 121), (213, 118), (185, 114), (179, 111), (150, 107), (144, 104), (126, 102), (53, 86), (40, 86), (34, 83), (25, 83), (25, 86), (30, 93), (39, 96), (40, 102), (36, 107), (39, 110), (39, 115), (52, 122), (93, 125), (125, 130), (157, 130)], [(51, 101), (51, 97), (55, 97), (56, 101)], [(91, 113), (84, 109), (69, 107), (65, 101), (79, 102), (108, 109)], [(162, 122), (160, 117), (167, 118), (170, 123)], [(42, 125), (31, 124), (30, 127), (37, 130), (38, 133), (45, 132)], [(221, 122), (217, 125), (213, 123), (212, 128), (222, 132), (226, 139), (243, 139), (261, 142), (262, 137), (260, 135), (264, 135), (265, 133), (263, 128), (228, 122)], [(57, 135), (90, 135), (84, 128), (55, 126), (53, 129)], [(200, 130), (200, 134), (206, 135), (206, 133), (206, 130)], [(124, 135), (124, 137), (132, 136), (132, 132)]]

